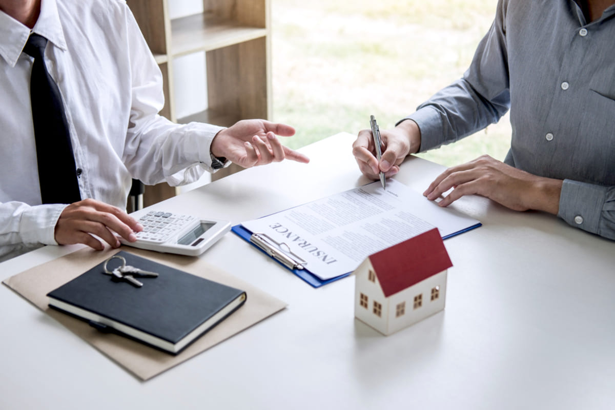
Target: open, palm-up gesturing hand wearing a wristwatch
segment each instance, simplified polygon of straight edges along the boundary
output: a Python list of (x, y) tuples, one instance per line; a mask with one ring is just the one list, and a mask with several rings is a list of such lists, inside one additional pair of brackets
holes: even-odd
[(266, 120), (241, 120), (221, 130), (212, 141), (212, 154), (226, 157), (244, 168), (284, 159), (308, 163), (309, 158), (282, 146), (276, 135), (295, 135), (295, 128)]

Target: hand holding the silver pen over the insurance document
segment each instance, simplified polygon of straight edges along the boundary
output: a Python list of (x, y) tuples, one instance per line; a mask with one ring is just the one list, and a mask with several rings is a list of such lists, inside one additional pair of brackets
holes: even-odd
[(361, 130), (352, 144), (352, 154), (361, 172), (371, 179), (378, 179), (380, 171), (386, 178), (399, 172), (399, 165), (408, 154), (414, 154), (421, 146), (421, 132), (413, 120), (405, 120), (392, 130), (382, 130), (383, 155), (378, 163), (371, 130)]

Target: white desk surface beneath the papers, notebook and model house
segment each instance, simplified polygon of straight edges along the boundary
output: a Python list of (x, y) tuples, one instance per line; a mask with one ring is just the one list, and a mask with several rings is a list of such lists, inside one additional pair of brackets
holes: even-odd
[[(367, 183), (353, 135), (162, 205), (239, 223)], [(419, 192), (442, 167), (413, 158)], [(201, 355), (139, 382), (0, 286), (0, 409), (612, 409), (615, 243), (482, 197), (454, 205), (483, 226), (445, 241), (446, 309), (389, 337), (354, 319), (354, 278), (311, 288), (229, 233), (202, 258), (288, 302)], [(0, 278), (77, 246), (0, 264)]]

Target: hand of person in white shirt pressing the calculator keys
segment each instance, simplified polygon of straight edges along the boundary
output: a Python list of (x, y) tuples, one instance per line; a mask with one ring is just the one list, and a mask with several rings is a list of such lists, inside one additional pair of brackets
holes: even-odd
[(105, 246), (92, 235), (117, 248), (120, 242), (113, 232), (129, 242), (135, 242), (137, 237), (134, 232), (142, 230), (143, 226), (136, 219), (119, 208), (97, 200), (84, 199), (71, 203), (62, 211), (55, 224), (55, 241), (60, 245), (85, 243), (101, 251)]

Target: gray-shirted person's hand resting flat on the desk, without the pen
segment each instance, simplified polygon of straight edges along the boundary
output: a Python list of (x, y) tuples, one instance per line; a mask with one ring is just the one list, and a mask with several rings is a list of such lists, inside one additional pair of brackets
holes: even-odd
[(423, 192), (435, 200), (454, 188), (438, 205), (446, 207), (464, 195), (478, 194), (515, 211), (541, 210), (557, 215), (559, 179), (543, 178), (506, 165), (490, 156), (448, 168)]

